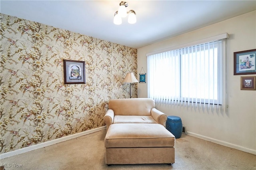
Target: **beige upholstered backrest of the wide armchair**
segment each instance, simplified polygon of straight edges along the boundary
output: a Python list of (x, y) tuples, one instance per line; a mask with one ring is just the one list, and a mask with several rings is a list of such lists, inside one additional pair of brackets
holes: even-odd
[(150, 98), (111, 99), (108, 102), (108, 109), (112, 109), (114, 115), (150, 116), (154, 107), (155, 101)]

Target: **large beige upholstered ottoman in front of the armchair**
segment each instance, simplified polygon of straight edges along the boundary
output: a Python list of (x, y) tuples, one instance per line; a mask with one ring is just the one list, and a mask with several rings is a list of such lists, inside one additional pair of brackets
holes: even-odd
[(108, 165), (175, 162), (175, 136), (160, 124), (112, 124), (104, 142)]

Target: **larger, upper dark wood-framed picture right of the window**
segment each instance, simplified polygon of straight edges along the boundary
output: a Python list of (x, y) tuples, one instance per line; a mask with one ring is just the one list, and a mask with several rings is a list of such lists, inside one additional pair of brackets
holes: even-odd
[(256, 74), (256, 49), (234, 52), (234, 75)]

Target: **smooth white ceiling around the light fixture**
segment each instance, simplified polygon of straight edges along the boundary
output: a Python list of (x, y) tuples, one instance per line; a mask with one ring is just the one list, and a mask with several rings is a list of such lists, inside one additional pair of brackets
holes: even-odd
[(0, 12), (140, 48), (256, 10), (256, 0), (127, 0), (137, 22), (113, 24), (121, 0), (0, 0)]

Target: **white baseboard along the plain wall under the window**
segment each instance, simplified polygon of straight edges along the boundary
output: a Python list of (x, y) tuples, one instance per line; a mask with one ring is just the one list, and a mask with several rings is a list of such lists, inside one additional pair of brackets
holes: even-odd
[(217, 143), (217, 144), (221, 144), (221, 145), (224, 145), (224, 146), (228, 146), (230, 148), (234, 148), (234, 149), (237, 149), (237, 150), (242, 150), (244, 152), (248, 152), (250, 154), (256, 155), (256, 150), (253, 150), (253, 149), (245, 148), (243, 146), (239, 146), (239, 145), (232, 144), (232, 143), (229, 143), (229, 142), (225, 142), (225, 141), (222, 141), (222, 140), (210, 138), (210, 137), (203, 136), (203, 135), (200, 135), (200, 134), (196, 134), (196, 133), (193, 133), (193, 132), (188, 132), (187, 131), (187, 133), (190, 136), (194, 136), (194, 137), (197, 137), (197, 138), (200, 138), (200, 139), (204, 139), (204, 140), (207, 140), (207, 141), (210, 141), (210, 142), (214, 142), (214, 143)]

